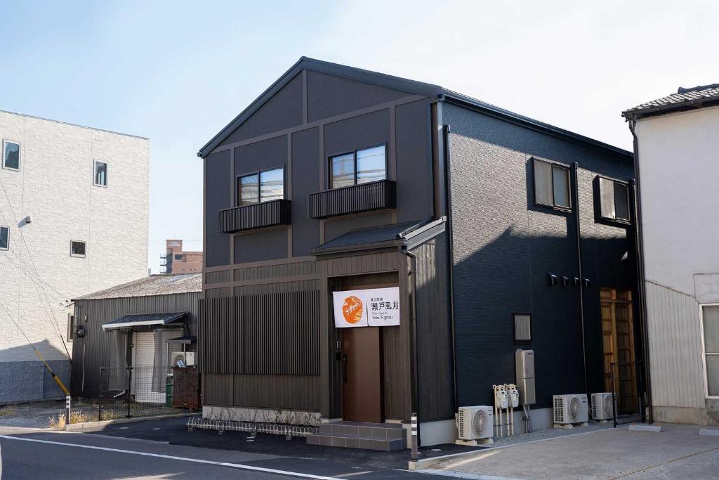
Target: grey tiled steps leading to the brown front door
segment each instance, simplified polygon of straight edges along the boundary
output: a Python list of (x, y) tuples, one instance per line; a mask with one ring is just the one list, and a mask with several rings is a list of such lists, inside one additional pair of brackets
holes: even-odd
[(331, 422), (307, 435), (307, 443), (389, 452), (407, 448), (407, 431), (399, 423)]

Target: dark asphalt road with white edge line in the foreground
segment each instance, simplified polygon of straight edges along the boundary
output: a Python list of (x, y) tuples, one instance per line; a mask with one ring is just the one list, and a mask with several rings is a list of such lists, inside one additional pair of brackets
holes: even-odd
[[(2, 479), (423, 479), (336, 461), (171, 445), (87, 433), (0, 427)], [(446, 477), (445, 477), (446, 478)]]

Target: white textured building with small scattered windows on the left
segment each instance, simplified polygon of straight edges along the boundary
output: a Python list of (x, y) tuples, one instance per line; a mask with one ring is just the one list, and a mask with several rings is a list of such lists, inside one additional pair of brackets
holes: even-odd
[(61, 397), (29, 344), (69, 389), (69, 299), (147, 273), (150, 140), (0, 111), (0, 142), (0, 404)]

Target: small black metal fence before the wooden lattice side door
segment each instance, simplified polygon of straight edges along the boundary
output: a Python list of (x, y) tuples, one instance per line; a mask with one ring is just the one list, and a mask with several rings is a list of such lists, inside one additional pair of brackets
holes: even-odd
[(614, 426), (646, 422), (644, 395), (644, 366), (641, 361), (612, 363), (612, 397)]

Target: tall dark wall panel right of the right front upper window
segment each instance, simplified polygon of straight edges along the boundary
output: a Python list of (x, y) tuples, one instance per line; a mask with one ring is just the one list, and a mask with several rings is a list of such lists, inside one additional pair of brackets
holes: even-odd
[(432, 215), (432, 157), (428, 101), (396, 107), (395, 122), (397, 221), (429, 218)]

